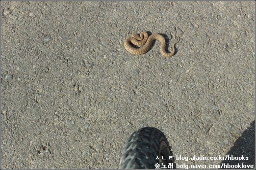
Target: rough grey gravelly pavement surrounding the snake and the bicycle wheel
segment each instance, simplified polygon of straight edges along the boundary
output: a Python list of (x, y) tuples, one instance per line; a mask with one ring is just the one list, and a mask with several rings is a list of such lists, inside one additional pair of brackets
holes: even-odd
[[(1, 14), (1, 168), (118, 168), (145, 126), (174, 155), (254, 164), (254, 2), (2, 2)], [(128, 53), (141, 31), (169, 46), (177, 33), (176, 55), (159, 42)]]

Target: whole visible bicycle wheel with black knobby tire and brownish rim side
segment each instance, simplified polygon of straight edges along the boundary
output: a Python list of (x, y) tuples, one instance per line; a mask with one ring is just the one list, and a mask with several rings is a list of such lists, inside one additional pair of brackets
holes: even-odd
[(133, 132), (125, 143), (119, 167), (155, 169), (157, 165), (160, 168), (176, 168), (164, 133), (155, 127), (143, 127)]

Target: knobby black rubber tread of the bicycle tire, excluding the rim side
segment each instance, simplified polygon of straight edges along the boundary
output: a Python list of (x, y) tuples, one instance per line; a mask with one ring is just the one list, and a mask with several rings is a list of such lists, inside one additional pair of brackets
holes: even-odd
[(164, 133), (155, 127), (143, 127), (133, 132), (124, 146), (119, 167), (155, 168), (155, 164), (159, 163), (159, 159), (156, 158), (159, 156), (160, 144), (163, 140), (169, 147)]

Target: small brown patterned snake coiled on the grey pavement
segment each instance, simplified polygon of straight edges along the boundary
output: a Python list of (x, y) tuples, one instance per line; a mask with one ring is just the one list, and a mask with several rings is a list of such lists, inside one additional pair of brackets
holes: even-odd
[[(166, 52), (166, 43), (165, 43), (165, 38), (158, 34), (152, 34), (151, 36), (148, 37), (147, 32), (141, 32), (140, 35), (132, 35), (131, 37), (127, 38), (124, 40), (123, 46), (124, 48), (134, 54), (134, 55), (141, 55), (146, 52), (148, 52), (155, 40), (160, 41), (160, 52), (163, 56), (165, 57), (171, 57), (175, 53), (175, 44), (180, 42), (180, 37), (178, 37), (178, 40), (172, 44), (172, 51), (170, 53)], [(134, 47), (132, 44), (139, 46), (140, 48)]]

